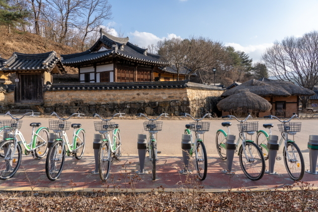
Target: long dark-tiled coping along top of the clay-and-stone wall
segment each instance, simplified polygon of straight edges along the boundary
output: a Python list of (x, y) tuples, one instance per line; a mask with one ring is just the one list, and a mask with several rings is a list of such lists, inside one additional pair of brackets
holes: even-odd
[(171, 89), (193, 88), (203, 90), (223, 90), (217, 86), (203, 85), (182, 81), (159, 81), (159, 82), (105, 82), (105, 83), (53, 83), (46, 85), (44, 91), (67, 91), (67, 90), (137, 90), (137, 89)]

